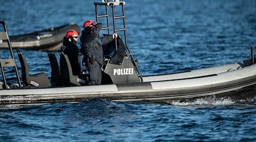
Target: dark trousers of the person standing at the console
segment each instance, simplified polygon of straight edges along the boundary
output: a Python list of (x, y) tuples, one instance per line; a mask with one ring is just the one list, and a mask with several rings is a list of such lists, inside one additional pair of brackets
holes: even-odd
[(101, 64), (94, 61), (88, 63), (88, 69), (89, 69), (89, 81), (88, 85), (100, 85), (101, 84)]

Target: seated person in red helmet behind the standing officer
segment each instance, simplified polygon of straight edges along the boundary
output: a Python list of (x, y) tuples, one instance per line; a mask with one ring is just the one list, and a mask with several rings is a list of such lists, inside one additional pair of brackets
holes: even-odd
[[(68, 56), (71, 63), (72, 72), (74, 75), (81, 73), (80, 67), (80, 49), (77, 47), (76, 43), (79, 34), (75, 30), (69, 30), (67, 34), (63, 37), (63, 44), (61, 45), (60, 51)], [(62, 60), (60, 59), (60, 73), (63, 73)]]

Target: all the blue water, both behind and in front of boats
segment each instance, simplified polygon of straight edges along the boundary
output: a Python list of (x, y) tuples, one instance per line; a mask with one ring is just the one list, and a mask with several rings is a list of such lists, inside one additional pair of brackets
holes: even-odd
[[(256, 43), (254, 0), (126, 3), (128, 43), (144, 76), (240, 62), (250, 58)], [(93, 1), (14, 0), (0, 7), (10, 35), (95, 19)], [(0, 56), (7, 52), (0, 50)], [(22, 52), (31, 74), (51, 76), (46, 52)], [(7, 76), (14, 77), (13, 71)], [(1, 108), (0, 141), (256, 141), (255, 101), (93, 99)]]

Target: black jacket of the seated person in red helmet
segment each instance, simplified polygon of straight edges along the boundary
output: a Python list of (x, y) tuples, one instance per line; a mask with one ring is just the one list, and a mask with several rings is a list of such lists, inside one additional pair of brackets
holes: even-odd
[(77, 45), (73, 41), (69, 41), (66, 37), (64, 37), (63, 45), (61, 46), (60, 51), (68, 56), (69, 62), (72, 66), (73, 74), (80, 74), (80, 51)]

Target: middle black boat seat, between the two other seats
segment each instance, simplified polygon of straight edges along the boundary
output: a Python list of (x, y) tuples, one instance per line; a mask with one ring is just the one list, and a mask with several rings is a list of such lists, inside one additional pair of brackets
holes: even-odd
[(53, 83), (53, 86), (62, 86), (62, 81), (60, 77), (60, 68), (59, 64), (57, 62), (56, 56), (54, 53), (50, 52), (49, 50), (46, 50), (49, 62), (51, 64), (51, 82)]

